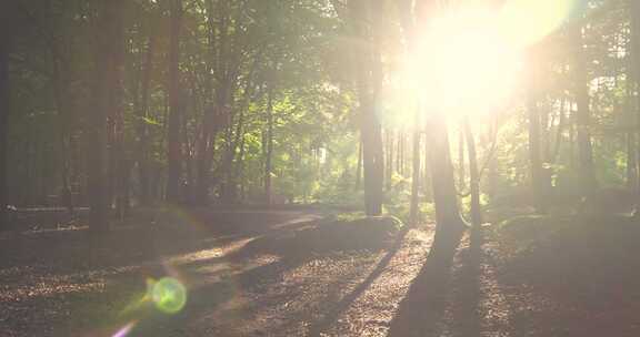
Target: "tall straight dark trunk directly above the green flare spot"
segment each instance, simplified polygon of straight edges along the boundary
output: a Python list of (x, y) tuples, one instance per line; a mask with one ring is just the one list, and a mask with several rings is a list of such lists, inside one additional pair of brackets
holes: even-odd
[(169, 130), (167, 140), (167, 201), (180, 202), (181, 139), (180, 139), (180, 30), (182, 0), (171, 0), (171, 37), (169, 40)]

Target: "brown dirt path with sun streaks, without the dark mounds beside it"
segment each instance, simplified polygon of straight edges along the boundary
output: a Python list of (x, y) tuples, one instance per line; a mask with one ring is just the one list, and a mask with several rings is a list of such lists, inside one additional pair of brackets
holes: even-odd
[[(89, 247), (83, 229), (0, 238), (0, 336), (387, 336), (433, 238), (431, 228), (411, 229), (383, 249), (288, 255), (256, 243), (323, 226), (320, 215), (176, 211), (163, 221), (118, 228), (101, 247)], [(594, 316), (506, 274), (501, 259), (496, 242), (472, 247), (464, 237), (434, 278), (442, 284), (421, 285), (437, 287), (432, 298), (408, 302), (418, 314), (408, 331), (638, 336), (630, 310)], [(146, 297), (162, 277), (187, 289), (177, 313)]]

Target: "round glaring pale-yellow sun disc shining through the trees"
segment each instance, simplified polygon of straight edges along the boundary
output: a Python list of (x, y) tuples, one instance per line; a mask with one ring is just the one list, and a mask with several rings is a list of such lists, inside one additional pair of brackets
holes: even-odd
[(497, 12), (458, 11), (434, 20), (411, 55), (408, 74), (428, 112), (486, 114), (513, 93), (521, 52)]

